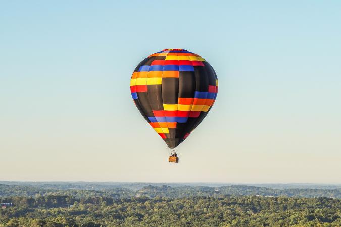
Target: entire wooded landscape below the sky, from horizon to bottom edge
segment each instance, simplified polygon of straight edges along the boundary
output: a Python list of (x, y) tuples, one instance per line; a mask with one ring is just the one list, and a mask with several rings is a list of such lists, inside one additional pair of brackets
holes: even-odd
[(341, 185), (0, 182), (0, 226), (341, 226)]

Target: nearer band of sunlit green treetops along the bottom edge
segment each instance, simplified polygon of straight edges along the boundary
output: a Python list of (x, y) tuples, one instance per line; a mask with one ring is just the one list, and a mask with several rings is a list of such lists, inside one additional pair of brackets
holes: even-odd
[(341, 200), (325, 197), (49, 195), (1, 201), (16, 206), (0, 209), (0, 226), (341, 226)]

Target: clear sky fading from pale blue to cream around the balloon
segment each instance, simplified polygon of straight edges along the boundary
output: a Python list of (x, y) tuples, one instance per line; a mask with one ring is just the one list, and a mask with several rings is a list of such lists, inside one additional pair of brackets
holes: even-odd
[[(2, 1), (0, 180), (341, 183), (340, 1)], [(215, 105), (179, 163), (136, 65), (205, 58)]]

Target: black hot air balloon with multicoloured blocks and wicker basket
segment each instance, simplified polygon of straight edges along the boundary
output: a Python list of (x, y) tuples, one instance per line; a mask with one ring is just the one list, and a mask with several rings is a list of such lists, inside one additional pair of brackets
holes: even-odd
[(178, 162), (175, 148), (201, 123), (218, 93), (212, 66), (185, 49), (164, 49), (135, 68), (130, 91), (144, 119), (173, 149), (169, 162)]

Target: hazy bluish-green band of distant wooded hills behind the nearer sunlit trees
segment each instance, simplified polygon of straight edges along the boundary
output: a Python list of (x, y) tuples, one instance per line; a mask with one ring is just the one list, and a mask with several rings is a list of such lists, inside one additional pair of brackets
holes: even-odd
[[(74, 186), (74, 185), (72, 185)], [(51, 187), (51, 186), (50, 186)], [(255, 187), (247, 185), (230, 185), (220, 187), (208, 186), (168, 186), (168, 185), (147, 185), (139, 189), (129, 189), (118, 186), (105, 186), (103, 189), (53, 189), (42, 188), (36, 186), (20, 186), (20, 185), (5, 185), (0, 184), (0, 197), (8, 196), (25, 196), (36, 197), (46, 195), (70, 195), (76, 198), (104, 196), (112, 198), (129, 198), (134, 196), (147, 197), (169, 197), (169, 198), (184, 198), (192, 196), (226, 196), (226, 195), (261, 195), (261, 196), (287, 196), (287, 197), (328, 197), (341, 198), (341, 188), (335, 189), (313, 189), (313, 188), (288, 188), (288, 189), (273, 189), (267, 187)], [(66, 188), (59, 186), (59, 188)], [(79, 187), (81, 188), (81, 187)], [(88, 186), (85, 186), (88, 188)], [(100, 187), (97, 187), (100, 188)]]

